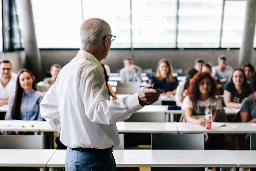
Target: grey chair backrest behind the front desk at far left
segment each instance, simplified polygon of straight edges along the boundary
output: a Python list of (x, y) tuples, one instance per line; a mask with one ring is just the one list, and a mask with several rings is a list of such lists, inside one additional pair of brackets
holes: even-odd
[(42, 149), (42, 135), (0, 135), (3, 149)]

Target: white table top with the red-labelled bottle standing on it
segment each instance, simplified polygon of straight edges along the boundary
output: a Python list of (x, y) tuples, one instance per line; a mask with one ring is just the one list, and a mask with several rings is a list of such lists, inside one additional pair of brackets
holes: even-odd
[[(219, 133), (219, 134), (248, 134), (256, 133), (256, 125), (252, 123), (225, 123), (226, 126), (216, 127), (212, 130), (206, 130), (205, 127), (185, 122), (176, 122), (178, 132), (184, 133)], [(214, 125), (214, 124), (213, 124)]]

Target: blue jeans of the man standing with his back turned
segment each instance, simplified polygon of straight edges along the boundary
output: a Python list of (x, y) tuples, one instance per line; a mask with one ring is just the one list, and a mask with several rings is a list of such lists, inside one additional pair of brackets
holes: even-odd
[(116, 162), (112, 152), (80, 152), (67, 148), (65, 159), (66, 171), (116, 171)]

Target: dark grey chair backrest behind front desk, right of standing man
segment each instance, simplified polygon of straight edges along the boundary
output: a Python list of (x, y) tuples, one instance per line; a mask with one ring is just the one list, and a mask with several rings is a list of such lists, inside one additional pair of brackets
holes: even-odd
[(152, 134), (152, 149), (204, 149), (203, 134)]

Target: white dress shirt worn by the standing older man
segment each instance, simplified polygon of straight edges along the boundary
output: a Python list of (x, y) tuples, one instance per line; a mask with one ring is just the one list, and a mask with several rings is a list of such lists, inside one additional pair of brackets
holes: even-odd
[(142, 109), (138, 94), (109, 100), (99, 61), (80, 50), (63, 67), (40, 103), (42, 118), (71, 148), (109, 148), (119, 144), (116, 122)]

